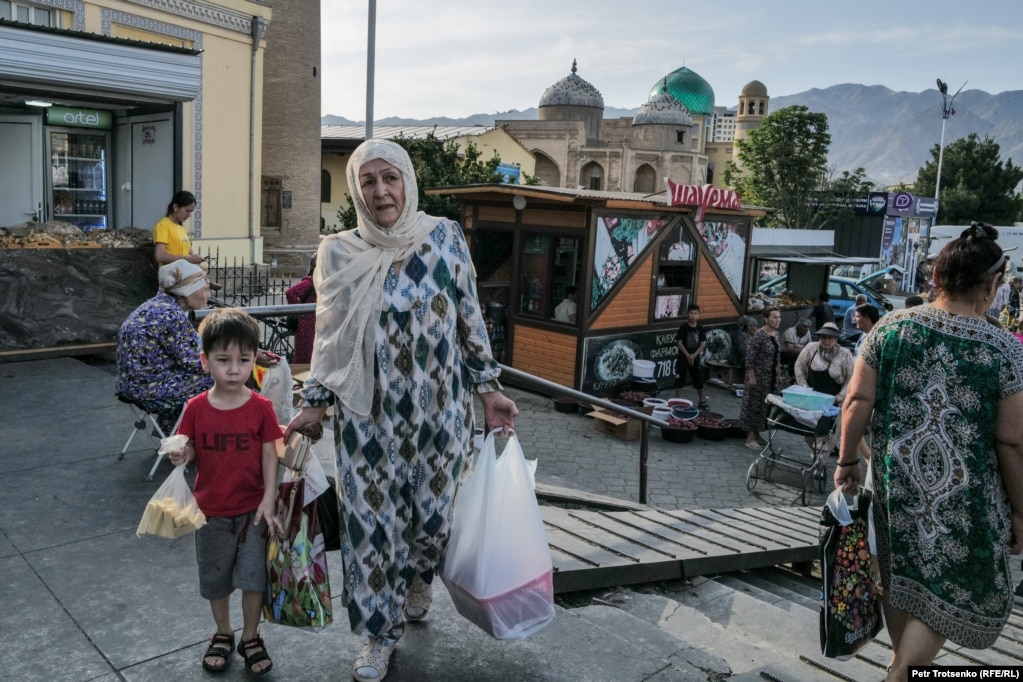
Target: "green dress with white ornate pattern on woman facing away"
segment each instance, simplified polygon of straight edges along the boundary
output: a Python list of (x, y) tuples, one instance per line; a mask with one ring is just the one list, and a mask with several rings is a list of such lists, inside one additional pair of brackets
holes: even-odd
[(1013, 605), (998, 400), (1023, 391), (1023, 345), (921, 306), (885, 315), (861, 357), (878, 372), (874, 517), (891, 603), (950, 641), (990, 646)]

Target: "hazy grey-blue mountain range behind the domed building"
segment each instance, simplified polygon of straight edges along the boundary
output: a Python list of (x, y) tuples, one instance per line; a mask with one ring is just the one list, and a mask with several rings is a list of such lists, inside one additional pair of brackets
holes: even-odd
[[(795, 95), (771, 97), (770, 110), (802, 104), (828, 115), (832, 135), (829, 164), (835, 174), (863, 168), (879, 185), (911, 183), (931, 158), (941, 139), (941, 95), (937, 90), (896, 92), (881, 85), (843, 84), (814, 88)], [(631, 117), (637, 109), (606, 107), (605, 119)], [(977, 133), (997, 142), (1002, 161), (1023, 165), (1023, 90), (996, 95), (964, 90), (955, 99), (954, 116), (945, 128), (945, 145)], [(477, 113), (464, 119), (391, 118), (377, 126), (492, 126), (496, 120), (536, 120), (536, 107), (501, 113)], [(322, 125), (359, 125), (342, 117), (324, 116)]]

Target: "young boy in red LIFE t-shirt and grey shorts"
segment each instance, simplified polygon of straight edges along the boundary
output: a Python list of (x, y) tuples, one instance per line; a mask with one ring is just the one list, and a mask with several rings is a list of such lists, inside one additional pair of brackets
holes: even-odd
[[(249, 672), (270, 672), (273, 662), (259, 634), (266, 591), (267, 532), (280, 533), (274, 515), (277, 446), (283, 438), (273, 404), (246, 387), (259, 348), (259, 324), (236, 309), (211, 313), (198, 326), (203, 368), (213, 388), (185, 405), (178, 433), (184, 449), (175, 465), (195, 460), (195, 501), (207, 524), (195, 533), (199, 594), (210, 600), (217, 632), (203, 668), (221, 672), (234, 649), (230, 599), (241, 590), (238, 653)], [(265, 522), (264, 522), (265, 521)]]

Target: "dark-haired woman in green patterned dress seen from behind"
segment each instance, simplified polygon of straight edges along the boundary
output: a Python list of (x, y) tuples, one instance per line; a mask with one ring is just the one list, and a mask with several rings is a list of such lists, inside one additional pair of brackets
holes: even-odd
[[(835, 485), (862, 482), (868, 422), (888, 680), (945, 640), (985, 648), (1013, 604), (1023, 550), (1023, 345), (984, 318), (1009, 261), (974, 224), (938, 255), (937, 295), (895, 311), (863, 344), (842, 412)], [(873, 418), (872, 418), (873, 413)]]

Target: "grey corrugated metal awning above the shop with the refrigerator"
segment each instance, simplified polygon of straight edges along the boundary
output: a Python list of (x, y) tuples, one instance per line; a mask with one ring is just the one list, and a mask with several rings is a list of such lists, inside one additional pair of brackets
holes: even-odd
[(195, 50), (0, 24), (0, 82), (7, 87), (184, 102), (198, 95), (202, 76)]

